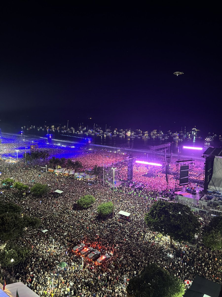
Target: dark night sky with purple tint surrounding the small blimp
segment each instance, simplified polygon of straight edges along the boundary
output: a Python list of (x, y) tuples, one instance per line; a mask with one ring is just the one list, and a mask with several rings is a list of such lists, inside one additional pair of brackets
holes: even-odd
[(1, 125), (69, 119), (111, 129), (222, 132), (216, 7), (5, 2)]

